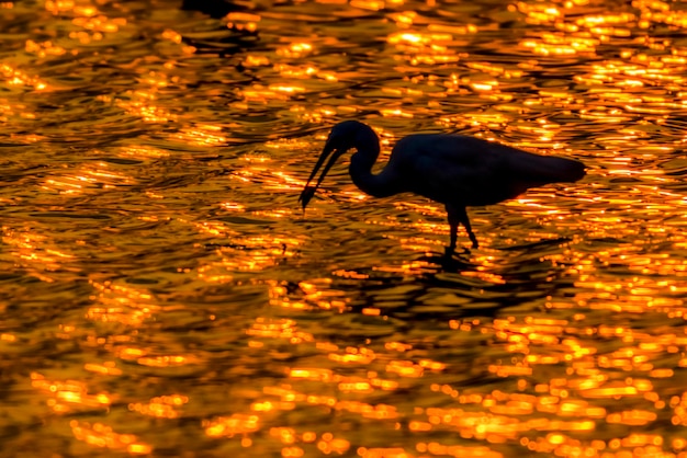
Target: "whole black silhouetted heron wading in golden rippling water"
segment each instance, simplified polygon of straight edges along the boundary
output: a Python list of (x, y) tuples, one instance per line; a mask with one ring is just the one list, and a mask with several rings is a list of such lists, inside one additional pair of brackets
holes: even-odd
[[(517, 197), (530, 187), (573, 183), (585, 175), (585, 165), (574, 159), (541, 156), (494, 141), (455, 134), (413, 134), (392, 149), (384, 169), (372, 173), (380, 156), (380, 139), (367, 124), (344, 121), (331, 128), (325, 147), (299, 197), (303, 211), (317, 187), (346, 151), (356, 149), (349, 173), (360, 191), (373, 197), (414, 193), (443, 204), (450, 228), (447, 255), (458, 242), (463, 225), (472, 248), (480, 247), (466, 207), (497, 204)], [(325, 161), (317, 183), (311, 182)]]

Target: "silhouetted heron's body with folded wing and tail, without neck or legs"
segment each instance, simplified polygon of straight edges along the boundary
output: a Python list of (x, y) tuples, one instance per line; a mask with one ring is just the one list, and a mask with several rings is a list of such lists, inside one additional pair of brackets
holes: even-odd
[(412, 135), (396, 144), (387, 167), (407, 191), (442, 203), (489, 205), (529, 187), (577, 180), (559, 170), (568, 162), (577, 163), (474, 137)]

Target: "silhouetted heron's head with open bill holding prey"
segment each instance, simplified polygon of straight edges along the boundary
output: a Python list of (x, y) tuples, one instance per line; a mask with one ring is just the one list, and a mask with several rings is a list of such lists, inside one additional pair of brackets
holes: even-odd
[[(301, 203), (301, 205), (303, 205), (304, 210), (307, 204), (311, 202), (311, 199), (315, 195), (315, 191), (317, 191), (317, 187), (327, 175), (327, 172), (329, 172), (329, 169), (331, 169), (331, 165), (336, 163), (337, 159), (339, 159), (341, 154), (344, 154), (349, 149), (356, 147), (357, 141), (358, 141), (357, 137), (360, 134), (360, 131), (363, 129), (372, 130), (370, 129), (370, 127), (357, 121), (345, 121), (342, 123), (337, 124), (336, 126), (331, 128), (331, 131), (329, 133), (329, 137), (327, 137), (327, 142), (325, 144), (325, 148), (322, 150), (322, 153), (319, 154), (319, 158), (317, 159), (317, 163), (315, 164), (315, 168), (313, 168), (313, 171), (311, 172), (311, 176), (307, 179), (307, 183), (305, 184), (305, 187), (303, 188), (303, 192), (301, 193), (301, 196), (299, 197), (299, 202)], [(312, 186), (311, 181), (313, 181), (313, 179), (315, 178), (315, 174), (317, 173), (319, 168), (325, 163), (327, 158), (329, 158), (329, 161), (327, 162), (327, 165), (325, 165), (325, 169), (319, 175), (319, 179), (317, 180), (317, 184), (315, 186)]]

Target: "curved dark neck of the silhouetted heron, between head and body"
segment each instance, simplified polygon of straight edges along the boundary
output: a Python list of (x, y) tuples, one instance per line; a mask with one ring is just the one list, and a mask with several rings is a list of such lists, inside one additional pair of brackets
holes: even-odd
[[(380, 140), (376, 134), (370, 129), (370, 138), (357, 138), (358, 151), (351, 157), (348, 171), (356, 186), (373, 197), (387, 197), (396, 194), (397, 190), (392, 182), (391, 174), (382, 171), (380, 174), (372, 173), (372, 165), (380, 156)], [(363, 136), (367, 136), (363, 134)]]

